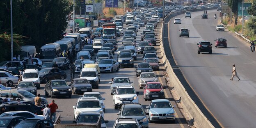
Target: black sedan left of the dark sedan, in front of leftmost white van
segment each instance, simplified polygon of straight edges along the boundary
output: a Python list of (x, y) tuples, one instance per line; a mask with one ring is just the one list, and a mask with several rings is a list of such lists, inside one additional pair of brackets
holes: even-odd
[(44, 87), (45, 96), (54, 98), (56, 96), (72, 96), (72, 88), (65, 80), (49, 80)]

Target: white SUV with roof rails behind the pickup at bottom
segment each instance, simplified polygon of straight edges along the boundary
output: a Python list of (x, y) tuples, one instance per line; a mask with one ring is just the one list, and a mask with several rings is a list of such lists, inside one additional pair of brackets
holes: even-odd
[(103, 107), (101, 106), (101, 102), (97, 97), (80, 97), (76, 101), (74, 109), (74, 119), (81, 112), (99, 112), (104, 118)]

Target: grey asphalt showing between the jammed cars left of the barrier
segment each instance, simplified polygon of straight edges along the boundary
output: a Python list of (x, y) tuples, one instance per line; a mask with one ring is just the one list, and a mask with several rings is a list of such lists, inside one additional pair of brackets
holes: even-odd
[[(124, 25), (124, 30), (126, 30), (126, 25)], [(157, 42), (159, 43), (159, 39), (160, 39), (160, 28), (161, 28), (161, 24), (158, 24), (158, 28), (156, 28), (155, 33), (158, 35), (157, 36)], [(137, 32), (137, 44), (139, 43), (139, 40), (141, 39), (141, 32), (144, 29), (144, 27), (141, 27), (141, 29), (139, 29), (139, 32)], [(121, 34), (121, 37), (117, 38), (117, 41), (119, 41), (118, 43), (118, 47), (121, 46), (121, 39), (122, 39), (123, 34)], [(159, 49), (159, 46), (156, 46), (157, 49)], [(160, 53), (160, 50), (158, 50), (158, 54)], [(159, 55), (160, 56), (160, 55)], [(94, 58), (94, 57), (92, 57)], [(114, 55), (114, 59), (117, 59), (117, 51)], [(137, 55), (137, 61), (135, 61), (135, 66), (139, 63), (142, 62), (142, 54), (138, 54)], [(166, 85), (165, 83), (165, 79), (164, 79), (164, 75), (163, 75), (163, 71), (155, 71), (155, 73), (158, 76), (158, 80), (160, 82), (162, 82), (163, 85)], [(66, 74), (67, 74), (67, 78), (65, 79), (66, 82), (70, 82), (70, 72), (69, 69), (66, 70)], [(79, 78), (78, 76), (79, 74), (75, 74), (75, 78)], [(104, 115), (104, 119), (108, 120), (109, 123), (107, 123), (107, 127), (108, 128), (112, 128), (114, 121), (117, 119), (117, 113), (119, 112), (119, 110), (115, 110), (113, 107), (113, 101), (112, 98), (113, 96), (110, 95), (110, 84), (109, 82), (111, 82), (111, 78), (117, 77), (117, 76), (128, 76), (130, 78), (131, 81), (133, 81), (133, 86), (135, 87), (135, 90), (137, 92), (139, 92), (139, 103), (146, 109), (146, 106), (149, 105), (150, 101), (144, 101), (143, 99), (143, 89), (139, 89), (138, 87), (138, 79), (135, 76), (135, 68), (120, 68), (119, 72), (114, 72), (114, 73), (101, 73), (101, 82), (99, 85), (99, 89), (93, 89), (93, 91), (99, 91), (101, 92), (101, 95), (106, 98), (105, 102), (105, 115)], [(44, 96), (44, 86), (45, 84), (41, 84), (41, 89), (37, 91), (37, 93), (40, 93), (42, 97)], [(173, 100), (173, 98), (171, 97), (170, 91), (169, 89), (165, 89), (165, 95), (166, 98), (169, 98), (169, 100), (171, 101), (171, 103), (173, 105), (176, 105), (175, 101)], [(59, 114), (61, 114), (61, 123), (62, 124), (72, 124), (73, 123), (73, 113), (74, 110), (72, 108), (73, 105), (75, 105), (77, 99), (82, 96), (82, 95), (72, 95), (72, 98), (54, 98), (55, 103), (59, 106), (59, 109), (57, 110), (57, 116)], [(45, 97), (48, 101), (48, 103), (50, 103), (53, 99), (50, 97)], [(159, 122), (159, 123), (150, 123), (149, 124), (149, 128), (187, 128), (187, 123), (186, 120), (183, 118), (181, 112), (178, 110), (178, 108), (175, 108), (176, 111), (176, 123), (169, 123), (169, 122)]]

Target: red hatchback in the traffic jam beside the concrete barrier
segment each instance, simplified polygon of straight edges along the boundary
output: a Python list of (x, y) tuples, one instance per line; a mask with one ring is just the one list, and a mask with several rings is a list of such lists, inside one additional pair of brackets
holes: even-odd
[(146, 86), (143, 88), (143, 98), (145, 101), (151, 100), (151, 99), (164, 99), (165, 98), (165, 92), (164, 87), (162, 87), (162, 84), (160, 82), (147, 82)]

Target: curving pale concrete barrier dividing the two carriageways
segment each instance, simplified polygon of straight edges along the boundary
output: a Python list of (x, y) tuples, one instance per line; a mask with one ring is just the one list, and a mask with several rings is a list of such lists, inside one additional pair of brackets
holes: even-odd
[[(210, 9), (217, 9), (217, 8), (206, 8), (206, 9), (193, 9), (193, 10), (188, 10), (188, 11), (203, 11), (203, 10), (210, 10)], [(179, 97), (182, 98), (181, 103), (184, 105), (184, 110), (187, 112), (188, 116), (190, 119), (194, 120), (194, 124), (198, 128), (215, 128), (213, 124), (205, 117), (205, 115), (201, 112), (197, 104), (192, 100), (192, 98), (189, 96), (187, 93), (186, 89), (183, 87), (181, 81), (178, 79), (176, 74), (174, 73), (174, 70), (171, 67), (171, 64), (169, 60), (167, 59), (166, 53), (165, 53), (165, 48), (163, 43), (169, 43), (169, 42), (163, 42), (163, 30), (164, 30), (164, 24), (165, 20), (167, 18), (172, 18), (174, 16), (180, 15), (180, 14), (185, 14), (185, 11), (174, 13), (174, 14), (169, 14), (168, 16), (165, 17), (164, 21), (162, 22), (162, 31), (160, 33), (160, 51), (161, 51), (161, 57), (163, 64), (165, 66), (166, 72), (169, 75), (169, 82), (171, 86), (174, 87), (176, 90), (177, 94)], [(166, 21), (167, 23), (169, 21)], [(166, 28), (165, 28), (166, 29)], [(169, 28), (167, 28), (169, 29)], [(170, 53), (167, 53), (170, 54)]]

